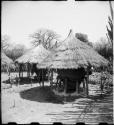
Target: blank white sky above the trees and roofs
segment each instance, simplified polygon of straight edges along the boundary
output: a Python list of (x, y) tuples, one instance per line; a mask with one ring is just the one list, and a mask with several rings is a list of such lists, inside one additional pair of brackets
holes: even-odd
[(85, 33), (91, 42), (96, 42), (106, 37), (109, 15), (109, 3), (102, 1), (4, 1), (2, 35), (30, 46), (28, 36), (39, 28), (54, 30), (62, 40), (73, 29), (74, 33)]

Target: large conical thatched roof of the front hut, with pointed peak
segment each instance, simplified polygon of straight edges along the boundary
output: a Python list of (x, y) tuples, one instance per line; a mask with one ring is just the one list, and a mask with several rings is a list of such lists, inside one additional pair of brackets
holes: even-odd
[(78, 40), (70, 31), (67, 39), (57, 48), (56, 52), (49, 55), (38, 67), (77, 69), (90, 64), (94, 67), (106, 66), (108, 61), (92, 47)]

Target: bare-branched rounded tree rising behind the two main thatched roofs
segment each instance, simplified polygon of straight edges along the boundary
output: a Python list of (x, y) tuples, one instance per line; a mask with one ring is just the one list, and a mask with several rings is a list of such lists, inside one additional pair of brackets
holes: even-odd
[(30, 37), (33, 39), (31, 42), (32, 45), (38, 46), (39, 44), (42, 44), (46, 49), (51, 49), (54, 46), (57, 46), (57, 41), (60, 36), (52, 30), (39, 29), (31, 34)]

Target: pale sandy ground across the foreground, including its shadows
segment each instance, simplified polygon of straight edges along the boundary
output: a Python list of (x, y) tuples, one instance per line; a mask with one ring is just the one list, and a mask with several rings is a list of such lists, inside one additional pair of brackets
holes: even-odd
[[(6, 74), (2, 74), (2, 81), (7, 78)], [(51, 91), (48, 82), (44, 88), (38, 83), (12, 87), (7, 84), (7, 89), (3, 87), (5, 85), (2, 82), (2, 123), (113, 123), (113, 93), (100, 96), (98, 84), (89, 84), (88, 98), (59, 97)]]

